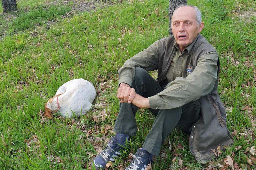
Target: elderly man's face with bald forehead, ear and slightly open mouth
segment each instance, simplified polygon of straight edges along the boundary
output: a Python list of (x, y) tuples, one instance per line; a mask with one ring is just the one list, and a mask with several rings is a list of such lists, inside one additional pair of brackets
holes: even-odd
[(203, 22), (197, 25), (196, 11), (193, 7), (183, 6), (172, 15), (172, 33), (180, 50), (185, 50), (203, 29)]

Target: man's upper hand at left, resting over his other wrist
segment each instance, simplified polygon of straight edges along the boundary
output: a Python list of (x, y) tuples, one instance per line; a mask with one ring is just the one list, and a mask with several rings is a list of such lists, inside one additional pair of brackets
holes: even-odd
[(117, 90), (117, 98), (120, 103), (131, 103), (135, 97), (135, 90), (126, 83), (121, 83)]

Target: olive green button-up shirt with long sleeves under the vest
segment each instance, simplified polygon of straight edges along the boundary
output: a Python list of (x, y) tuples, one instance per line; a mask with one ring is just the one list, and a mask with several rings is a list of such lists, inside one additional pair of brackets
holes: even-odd
[[(118, 83), (127, 83), (131, 86), (134, 77), (135, 67), (141, 67), (147, 71), (157, 70), (158, 54), (159, 54), (159, 40), (155, 41), (147, 49), (139, 52), (130, 59), (118, 70)], [(201, 96), (207, 95), (214, 86), (217, 79), (217, 61), (218, 54), (216, 52), (209, 52), (201, 55), (197, 66), (194, 70), (188, 71), (189, 51), (193, 50), (195, 40), (184, 50), (180, 51), (176, 42), (174, 41), (173, 48), (176, 52), (173, 57), (168, 72), (167, 79), (169, 81), (165, 89), (158, 94), (148, 97), (150, 107), (152, 109), (170, 109), (176, 108), (188, 103), (190, 101), (198, 100)], [(203, 86), (212, 84), (212, 86)], [(193, 95), (187, 95), (187, 94)]]

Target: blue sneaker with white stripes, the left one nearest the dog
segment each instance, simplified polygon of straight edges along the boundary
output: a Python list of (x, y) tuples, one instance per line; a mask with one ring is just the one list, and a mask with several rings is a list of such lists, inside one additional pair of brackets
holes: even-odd
[(106, 163), (115, 162), (115, 158), (121, 154), (119, 152), (121, 148), (123, 148), (122, 145), (119, 145), (115, 138), (112, 136), (106, 148), (94, 159), (95, 168), (104, 169)]

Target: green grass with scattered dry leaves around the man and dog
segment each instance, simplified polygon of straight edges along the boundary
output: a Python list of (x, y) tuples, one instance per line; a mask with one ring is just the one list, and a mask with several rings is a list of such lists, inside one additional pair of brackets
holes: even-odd
[[(18, 6), (22, 2), (18, 1)], [(104, 128), (113, 126), (118, 114), (117, 69), (155, 40), (168, 36), (168, 1), (131, 2), (65, 19), (61, 16), (70, 11), (71, 4), (49, 6), (44, 1), (28, 7), (29, 3), (24, 2), (14, 14), (16, 18), (10, 22), (0, 20), (0, 30), (7, 29), (0, 35), (0, 169), (87, 169), (97, 154), (96, 143), (89, 138), (107, 139), (112, 135), (109, 130), (104, 134)], [(246, 149), (256, 145), (252, 125), (256, 113), (256, 20), (251, 17), (252, 22), (248, 22), (231, 11), (239, 7), (256, 11), (255, 2), (239, 1), (238, 7), (231, 0), (190, 0), (188, 4), (201, 9), (205, 23), (202, 35), (219, 53), (219, 95), (228, 108), (228, 129), (236, 130), (237, 137), (233, 146), (206, 165), (196, 162), (182, 132), (171, 133), (171, 147), (188, 169), (225, 165), (223, 159), (232, 152), (234, 162), (241, 168), (254, 169), (255, 165), (247, 162), (253, 155)], [(157, 8), (159, 16), (155, 12)], [(48, 27), (48, 21), (55, 23)], [(44, 110), (44, 103), (59, 86), (76, 78), (84, 78), (102, 91), (94, 104), (106, 104), (73, 119), (42, 118), (40, 110)], [(100, 85), (103, 82), (106, 84)], [(104, 108), (108, 116), (95, 122), (93, 115), (97, 116)], [(142, 146), (154, 121), (147, 110), (141, 110), (136, 118), (139, 131), (131, 138), (127, 151), (113, 164), (114, 169), (127, 166), (129, 153)], [(83, 131), (89, 130), (92, 132), (88, 137), (81, 136), (86, 136)], [(248, 137), (239, 133), (248, 133)], [(32, 139), (34, 142), (29, 144)], [(104, 147), (105, 143), (102, 140), (97, 145)], [(173, 143), (175, 146), (181, 143), (184, 148), (175, 149)], [(242, 148), (235, 150), (236, 146)], [(176, 156), (169, 147), (167, 141), (153, 169), (179, 168), (177, 161), (172, 164)], [(56, 157), (61, 161), (57, 162)]]

